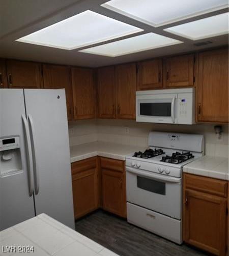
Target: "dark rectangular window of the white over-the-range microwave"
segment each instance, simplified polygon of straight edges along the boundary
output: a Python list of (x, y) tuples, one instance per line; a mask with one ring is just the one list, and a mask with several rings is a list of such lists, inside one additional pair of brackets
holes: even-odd
[(140, 103), (140, 115), (152, 117), (171, 117), (171, 102)]

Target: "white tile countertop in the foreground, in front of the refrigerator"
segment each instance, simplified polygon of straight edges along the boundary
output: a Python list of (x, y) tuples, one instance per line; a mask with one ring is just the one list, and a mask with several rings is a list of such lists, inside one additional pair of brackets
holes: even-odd
[[(4, 252), (10, 245), (16, 246), (16, 252)], [(34, 252), (19, 252), (19, 246), (34, 246)], [(24, 254), (33, 256), (118, 256), (44, 213), (0, 232), (1, 256)]]

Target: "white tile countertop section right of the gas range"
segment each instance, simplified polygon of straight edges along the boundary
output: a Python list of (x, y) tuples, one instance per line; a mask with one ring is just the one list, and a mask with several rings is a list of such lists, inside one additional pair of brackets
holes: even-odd
[(229, 180), (228, 158), (203, 156), (183, 168), (184, 173), (201, 175), (221, 180)]

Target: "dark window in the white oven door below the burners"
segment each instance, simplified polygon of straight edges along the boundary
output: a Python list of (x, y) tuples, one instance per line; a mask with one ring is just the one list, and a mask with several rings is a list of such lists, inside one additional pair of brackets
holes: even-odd
[(137, 176), (137, 187), (150, 192), (165, 195), (165, 183), (161, 181)]

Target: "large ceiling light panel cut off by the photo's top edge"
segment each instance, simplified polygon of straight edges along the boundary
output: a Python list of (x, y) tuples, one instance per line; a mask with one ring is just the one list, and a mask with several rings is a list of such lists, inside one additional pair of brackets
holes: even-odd
[(228, 7), (227, 0), (111, 0), (101, 6), (152, 26)]

